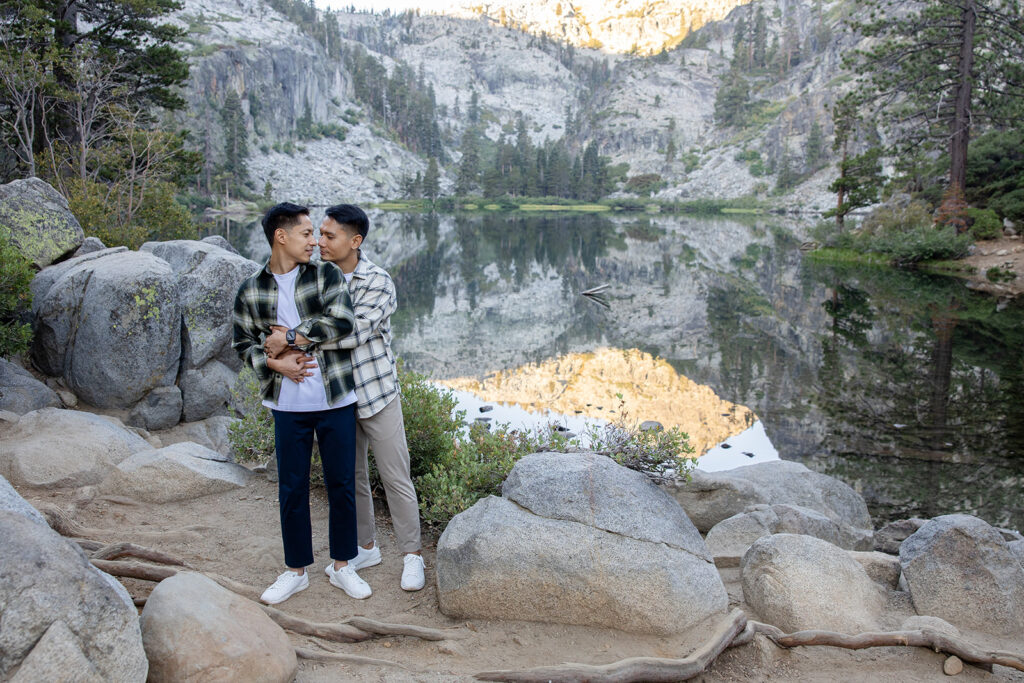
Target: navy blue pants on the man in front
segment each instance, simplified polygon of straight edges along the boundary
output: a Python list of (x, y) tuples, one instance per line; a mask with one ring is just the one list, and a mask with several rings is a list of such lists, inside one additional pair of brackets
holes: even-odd
[(355, 404), (313, 413), (272, 413), (285, 564), (298, 569), (313, 563), (309, 462), (314, 431), (330, 506), (331, 558), (352, 559), (356, 552)]

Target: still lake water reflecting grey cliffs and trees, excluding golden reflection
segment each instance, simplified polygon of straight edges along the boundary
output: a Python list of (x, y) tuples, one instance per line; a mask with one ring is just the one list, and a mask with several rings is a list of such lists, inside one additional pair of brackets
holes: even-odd
[[(394, 276), (395, 347), (414, 370), (486, 381), (638, 349), (753, 411), (779, 457), (853, 485), (877, 523), (969, 512), (1024, 529), (1024, 301), (815, 265), (795, 237), (806, 225), (776, 217), (371, 219), (366, 251)], [(256, 223), (216, 231), (268, 253)], [(603, 284), (607, 307), (579, 294)]]

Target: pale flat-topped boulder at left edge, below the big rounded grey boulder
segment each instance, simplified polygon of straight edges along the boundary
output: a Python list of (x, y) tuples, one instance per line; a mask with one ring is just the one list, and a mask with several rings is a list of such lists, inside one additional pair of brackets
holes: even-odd
[(85, 486), (151, 446), (110, 420), (46, 408), (22, 416), (0, 449), (0, 475), (18, 486)]

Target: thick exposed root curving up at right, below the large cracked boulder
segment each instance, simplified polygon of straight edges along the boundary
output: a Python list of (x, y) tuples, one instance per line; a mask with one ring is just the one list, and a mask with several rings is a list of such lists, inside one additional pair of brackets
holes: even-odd
[(524, 671), (488, 671), (476, 675), (481, 681), (594, 681), (626, 683), (628, 681), (685, 681), (699, 675), (746, 627), (746, 615), (733, 609), (715, 625), (708, 642), (682, 659), (631, 657), (604, 666), (565, 664), (539, 667)]

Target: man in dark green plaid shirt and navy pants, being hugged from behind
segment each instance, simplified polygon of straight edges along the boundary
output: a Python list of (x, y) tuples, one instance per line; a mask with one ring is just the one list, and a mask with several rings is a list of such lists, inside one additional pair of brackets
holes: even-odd
[[(356, 555), (355, 407), (350, 353), (322, 348), (354, 326), (345, 279), (334, 264), (310, 263), (316, 246), (309, 210), (283, 203), (263, 216), (270, 259), (239, 288), (231, 346), (259, 378), (274, 422), (278, 500), (286, 571), (261, 599), (275, 604), (309, 586), (313, 562), (309, 463), (319, 445), (330, 505), (331, 583), (354, 598), (370, 587), (348, 560)], [(288, 350), (271, 343), (282, 326)], [(270, 349), (268, 352), (267, 349)]]

